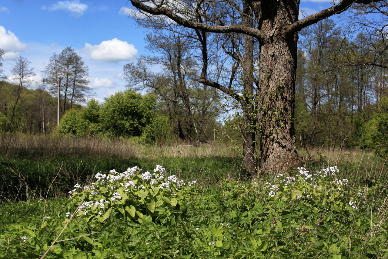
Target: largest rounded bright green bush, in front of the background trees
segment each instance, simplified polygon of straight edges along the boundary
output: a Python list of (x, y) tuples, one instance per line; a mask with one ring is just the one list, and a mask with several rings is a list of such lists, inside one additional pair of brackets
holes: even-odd
[(156, 98), (132, 90), (106, 98), (101, 108), (101, 128), (111, 136), (141, 136), (156, 116)]

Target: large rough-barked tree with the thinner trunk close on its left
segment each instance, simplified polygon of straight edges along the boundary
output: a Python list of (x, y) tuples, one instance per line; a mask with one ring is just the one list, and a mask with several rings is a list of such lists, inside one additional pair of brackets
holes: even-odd
[[(258, 167), (262, 172), (278, 171), (300, 163), (294, 133), (298, 31), (344, 12), (353, 3), (371, 1), (342, 0), (300, 21), (299, 0), (210, 0), (197, 1), (195, 4), (186, 0), (131, 2), (145, 13), (167, 16), (175, 23), (197, 31), (244, 35), (241, 93), (218, 84), (206, 73), (202, 73), (197, 81), (223, 91), (240, 103), (248, 136), (244, 147), (248, 152), (244, 155), (250, 156), (244, 159), (244, 165), (255, 174)], [(253, 77), (255, 41), (260, 45), (257, 82)], [(202, 44), (203, 52), (206, 52), (205, 47)], [(206, 66), (208, 64), (204, 63), (204, 70)], [(260, 146), (258, 154), (256, 135)], [(259, 159), (258, 164), (256, 159)]]

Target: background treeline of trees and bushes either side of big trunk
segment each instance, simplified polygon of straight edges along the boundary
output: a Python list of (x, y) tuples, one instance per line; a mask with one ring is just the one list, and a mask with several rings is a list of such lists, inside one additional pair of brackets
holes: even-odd
[[(306, 148), (372, 149), (386, 155), (386, 39), (364, 33), (353, 38), (344, 35), (329, 19), (300, 33), (295, 84), (297, 144)], [(225, 96), (214, 87), (204, 87), (196, 80), (201, 77), (201, 69), (192, 38), (171, 30), (154, 32), (146, 40), (154, 56), (141, 56), (137, 63), (124, 66), (127, 90), (106, 98), (103, 103), (92, 99), (86, 107), (77, 103), (90, 93), (84, 80), (87, 66), (71, 48), (60, 55), (54, 54), (47, 66), (46, 80), (50, 85), (57, 82), (61, 86), (62, 118), (58, 127), (55, 127), (56, 98), (47, 91), (43, 96), (43, 89), (23, 89), (19, 93), (20, 86), (1, 81), (1, 130), (134, 137), (142, 143), (167, 145), (213, 145), (215, 129), (232, 136), (233, 131), (243, 127), (238, 107), (229, 123), (216, 122), (230, 107), (223, 107)], [(153, 66), (161, 71), (154, 72)], [(234, 73), (237, 77), (239, 71)], [(221, 77), (222, 73), (219, 74)], [(49, 90), (54, 95), (55, 87)], [(147, 94), (136, 92), (140, 90)], [(242, 145), (242, 139), (241, 135), (222, 137), (223, 141), (233, 140), (238, 145)]]

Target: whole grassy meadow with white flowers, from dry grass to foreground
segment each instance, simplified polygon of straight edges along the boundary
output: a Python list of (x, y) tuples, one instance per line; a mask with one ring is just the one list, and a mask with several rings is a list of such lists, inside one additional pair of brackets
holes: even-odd
[(1, 138), (0, 258), (388, 257), (386, 160), (366, 151), (244, 179), (221, 143)]

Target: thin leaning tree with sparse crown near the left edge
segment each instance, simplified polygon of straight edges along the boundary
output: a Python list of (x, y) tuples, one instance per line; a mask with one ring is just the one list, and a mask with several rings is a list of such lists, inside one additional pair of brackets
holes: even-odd
[(31, 64), (31, 61), (28, 61), (27, 58), (23, 58), (22, 56), (20, 56), (19, 59), (16, 61), (16, 64), (11, 70), (12, 80), (15, 81), (17, 84), (17, 89), (15, 93), (16, 100), (15, 100), (14, 106), (12, 107), (12, 112), (11, 112), (11, 119), (10, 119), (11, 126), (12, 126), (12, 122), (14, 121), (15, 109), (16, 109), (17, 103), (19, 102), (21, 93), (31, 83), (31, 76), (35, 75), (33, 68), (29, 66), (29, 64)]

